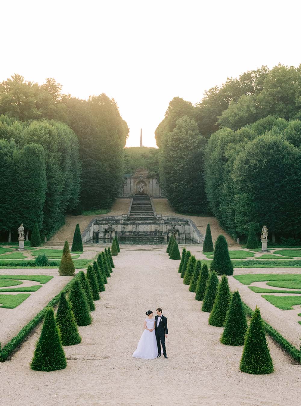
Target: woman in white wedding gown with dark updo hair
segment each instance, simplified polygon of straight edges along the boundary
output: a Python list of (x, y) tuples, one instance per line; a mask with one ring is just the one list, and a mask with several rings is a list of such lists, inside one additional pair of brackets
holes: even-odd
[(155, 335), (155, 319), (153, 312), (148, 310), (144, 320), (144, 332), (140, 337), (137, 350), (133, 353), (135, 358), (154, 359), (158, 355), (158, 346)]

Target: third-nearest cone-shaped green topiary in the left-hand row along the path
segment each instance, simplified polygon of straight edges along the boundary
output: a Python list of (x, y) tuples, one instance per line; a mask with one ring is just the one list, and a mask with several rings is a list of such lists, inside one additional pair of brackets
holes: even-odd
[(77, 278), (71, 286), (69, 302), (71, 304), (77, 326), (88, 326), (88, 324), (91, 324), (91, 316), (86, 294)]

